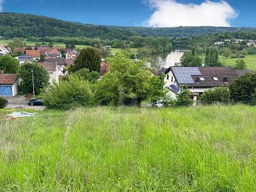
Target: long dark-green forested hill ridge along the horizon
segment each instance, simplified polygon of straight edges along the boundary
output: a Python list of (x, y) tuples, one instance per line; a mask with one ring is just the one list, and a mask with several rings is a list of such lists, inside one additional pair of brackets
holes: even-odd
[(0, 36), (29, 38), (45, 36), (86, 36), (102, 40), (127, 40), (129, 36), (197, 36), (230, 31), (252, 31), (256, 28), (179, 27), (142, 28), (97, 26), (20, 13), (0, 13)]

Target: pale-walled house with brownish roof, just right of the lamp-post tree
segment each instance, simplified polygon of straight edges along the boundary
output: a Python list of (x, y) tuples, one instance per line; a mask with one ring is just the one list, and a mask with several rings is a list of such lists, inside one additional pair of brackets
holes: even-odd
[(57, 64), (54, 63), (50, 63), (50, 62), (43, 62), (43, 63), (38, 63), (39, 65), (41, 65), (42, 67), (45, 68), (45, 70), (48, 72), (50, 79), (49, 79), (49, 83), (53, 83), (54, 81), (56, 83), (59, 83), (59, 73), (58, 73), (58, 66)]

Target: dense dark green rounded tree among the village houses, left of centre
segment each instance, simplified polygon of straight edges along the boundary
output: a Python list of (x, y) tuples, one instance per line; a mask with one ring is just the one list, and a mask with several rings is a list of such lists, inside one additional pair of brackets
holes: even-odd
[(87, 47), (83, 49), (70, 66), (71, 72), (76, 72), (81, 68), (88, 68), (90, 71), (100, 72), (100, 54), (97, 49)]

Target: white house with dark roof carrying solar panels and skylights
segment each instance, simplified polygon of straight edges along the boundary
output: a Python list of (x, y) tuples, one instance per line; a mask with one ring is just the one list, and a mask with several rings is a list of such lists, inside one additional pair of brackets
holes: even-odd
[(232, 67), (170, 67), (164, 73), (165, 86), (173, 97), (179, 94), (180, 88), (186, 87), (194, 100), (206, 90), (229, 86), (239, 77)]

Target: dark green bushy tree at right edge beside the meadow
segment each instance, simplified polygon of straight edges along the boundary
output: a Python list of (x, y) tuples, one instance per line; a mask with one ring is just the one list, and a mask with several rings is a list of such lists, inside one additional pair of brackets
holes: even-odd
[(230, 84), (230, 99), (234, 102), (251, 104), (256, 90), (256, 73), (246, 73)]

